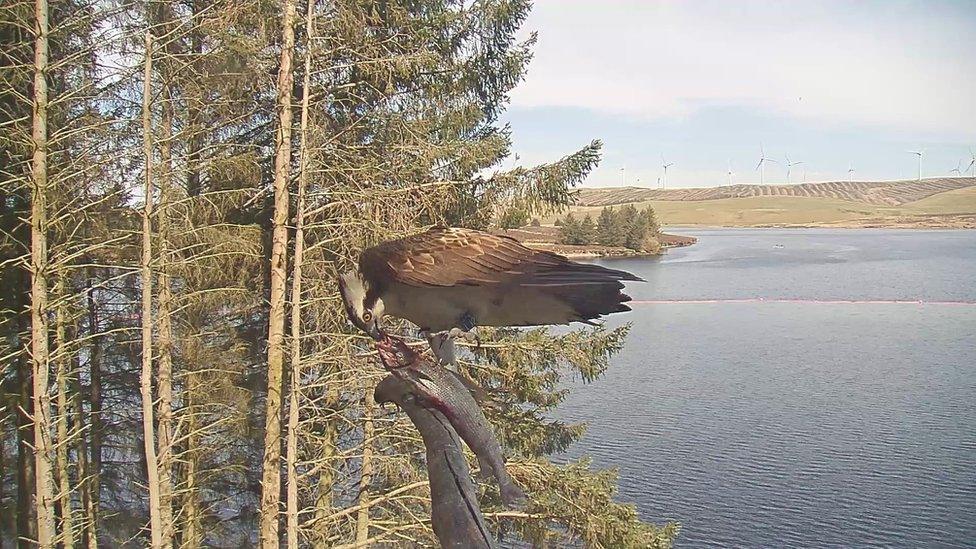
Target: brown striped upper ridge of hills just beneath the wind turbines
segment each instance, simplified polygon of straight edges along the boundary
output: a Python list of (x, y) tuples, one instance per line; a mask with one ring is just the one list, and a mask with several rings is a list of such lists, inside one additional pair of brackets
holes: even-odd
[(759, 196), (790, 196), (848, 200), (878, 206), (898, 206), (934, 194), (974, 185), (976, 185), (976, 178), (974, 177), (946, 177), (921, 181), (832, 181), (797, 185), (727, 185), (697, 189), (611, 187), (582, 189), (576, 203), (580, 206), (609, 206), (648, 200), (699, 201)]

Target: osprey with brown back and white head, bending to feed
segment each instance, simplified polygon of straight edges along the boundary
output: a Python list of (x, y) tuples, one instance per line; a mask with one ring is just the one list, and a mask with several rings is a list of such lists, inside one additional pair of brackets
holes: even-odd
[(342, 275), (339, 285), (350, 319), (379, 340), (385, 315), (407, 319), (427, 334), (593, 324), (630, 310), (622, 280), (641, 281), (507, 236), (441, 227), (363, 251), (358, 268)]

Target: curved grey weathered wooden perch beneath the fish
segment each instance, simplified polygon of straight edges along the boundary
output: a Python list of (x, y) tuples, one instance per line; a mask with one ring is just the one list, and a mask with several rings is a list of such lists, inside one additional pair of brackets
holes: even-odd
[(439, 410), (421, 405), (412, 387), (390, 374), (376, 385), (373, 399), (380, 404), (392, 402), (403, 409), (424, 439), (434, 535), (445, 548), (494, 548), (468, 462), (461, 453), (461, 440)]

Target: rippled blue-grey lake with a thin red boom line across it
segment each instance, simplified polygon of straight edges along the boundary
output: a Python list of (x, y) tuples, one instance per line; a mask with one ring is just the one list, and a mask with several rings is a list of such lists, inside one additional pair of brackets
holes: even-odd
[(976, 546), (976, 232), (672, 232), (564, 457), (678, 547)]

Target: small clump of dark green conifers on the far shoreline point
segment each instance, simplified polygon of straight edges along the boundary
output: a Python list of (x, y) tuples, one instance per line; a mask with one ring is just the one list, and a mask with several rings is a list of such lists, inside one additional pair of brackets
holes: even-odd
[(630, 248), (636, 251), (657, 251), (657, 235), (661, 232), (654, 210), (648, 206), (638, 210), (628, 204), (620, 209), (606, 207), (596, 222), (587, 214), (582, 220), (573, 214), (556, 220), (563, 244), (599, 244)]

